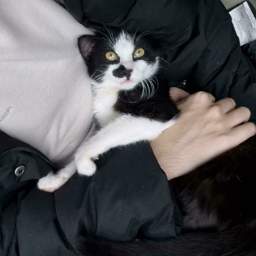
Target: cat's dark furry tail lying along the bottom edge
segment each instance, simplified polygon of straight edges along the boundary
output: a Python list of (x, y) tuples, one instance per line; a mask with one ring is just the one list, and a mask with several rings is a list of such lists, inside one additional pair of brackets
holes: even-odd
[(114, 242), (79, 237), (82, 256), (253, 256), (256, 255), (256, 221), (219, 233), (191, 232), (172, 239)]

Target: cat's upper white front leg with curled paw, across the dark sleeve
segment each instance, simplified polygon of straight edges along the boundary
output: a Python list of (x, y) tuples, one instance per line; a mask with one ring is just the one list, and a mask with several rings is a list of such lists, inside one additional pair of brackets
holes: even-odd
[(163, 130), (176, 123), (176, 118), (162, 122), (146, 117), (123, 114), (99, 130), (75, 154), (78, 173), (91, 176), (97, 166), (94, 159), (110, 148), (128, 145), (141, 140), (153, 140)]

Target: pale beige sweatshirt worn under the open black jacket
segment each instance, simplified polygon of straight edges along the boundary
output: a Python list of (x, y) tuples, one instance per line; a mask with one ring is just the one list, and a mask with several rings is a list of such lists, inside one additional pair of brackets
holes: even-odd
[(82, 34), (92, 33), (53, 0), (0, 1), (0, 130), (59, 167), (93, 118)]

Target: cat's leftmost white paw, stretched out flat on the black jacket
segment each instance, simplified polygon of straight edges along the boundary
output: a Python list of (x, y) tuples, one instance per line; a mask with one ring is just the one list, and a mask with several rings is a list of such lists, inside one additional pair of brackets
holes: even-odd
[(54, 192), (58, 188), (60, 188), (68, 178), (61, 177), (58, 174), (49, 173), (47, 176), (41, 178), (37, 182), (37, 187), (46, 192)]

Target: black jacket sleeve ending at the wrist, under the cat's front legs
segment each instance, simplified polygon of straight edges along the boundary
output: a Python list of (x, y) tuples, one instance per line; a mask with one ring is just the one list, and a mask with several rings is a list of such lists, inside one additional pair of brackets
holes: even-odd
[(56, 214), (71, 243), (77, 231), (117, 241), (180, 233), (181, 214), (148, 143), (114, 148), (96, 163), (93, 177), (75, 174), (55, 192)]

